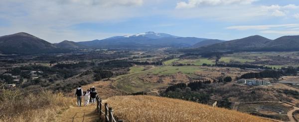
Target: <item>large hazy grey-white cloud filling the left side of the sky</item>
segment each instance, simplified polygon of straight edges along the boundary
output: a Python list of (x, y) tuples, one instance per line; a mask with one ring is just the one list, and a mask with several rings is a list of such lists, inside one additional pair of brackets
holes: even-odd
[(99, 39), (118, 33), (76, 30), (81, 23), (114, 23), (143, 13), (143, 0), (0, 0), (0, 35), (28, 32), (50, 42)]

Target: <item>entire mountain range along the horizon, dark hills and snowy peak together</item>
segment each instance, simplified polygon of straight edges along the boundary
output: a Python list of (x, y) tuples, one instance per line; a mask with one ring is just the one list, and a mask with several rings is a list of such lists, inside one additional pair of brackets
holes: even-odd
[(260, 35), (230, 41), (179, 37), (165, 33), (146, 32), (131, 36), (114, 36), (102, 40), (52, 44), (28, 33), (20, 32), (0, 36), (2, 54), (39, 54), (70, 52), (80, 48), (126, 48), (147, 49), (161, 47), (198, 47), (184, 49), (185, 52), (207, 51), (299, 51), (299, 36), (282, 36), (275, 40)]

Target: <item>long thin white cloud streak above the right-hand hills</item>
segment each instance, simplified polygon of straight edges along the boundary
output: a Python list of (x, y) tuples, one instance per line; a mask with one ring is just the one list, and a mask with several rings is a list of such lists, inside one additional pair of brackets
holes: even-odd
[(241, 25), (241, 26), (230, 26), (226, 27), (226, 29), (236, 29), (236, 30), (249, 30), (249, 29), (255, 29), (255, 30), (266, 30), (271, 29), (274, 27), (299, 27), (299, 24), (269, 24), (269, 25)]

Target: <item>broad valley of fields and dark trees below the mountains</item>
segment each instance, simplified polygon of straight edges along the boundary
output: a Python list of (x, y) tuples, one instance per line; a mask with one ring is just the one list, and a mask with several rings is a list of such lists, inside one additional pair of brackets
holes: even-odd
[[(15, 36), (32, 37), (24, 33)], [(113, 39), (119, 38), (128, 37)], [(230, 43), (235, 42), (238, 41)], [(207, 46), (185, 50), (168, 46), (88, 48), (65, 40), (53, 48), (69, 52), (1, 55), (0, 85), (25, 95), (62, 92), (66, 98), (73, 96), (78, 85), (84, 90), (94, 86), (100, 97), (108, 101), (115, 96), (147, 95), (208, 106), (216, 102), (218, 108), (294, 121), (290, 115), (299, 107), (299, 52), (197, 53)], [(94, 117), (90, 109), (82, 111)], [(63, 113), (72, 116), (76, 110), (71, 107)]]

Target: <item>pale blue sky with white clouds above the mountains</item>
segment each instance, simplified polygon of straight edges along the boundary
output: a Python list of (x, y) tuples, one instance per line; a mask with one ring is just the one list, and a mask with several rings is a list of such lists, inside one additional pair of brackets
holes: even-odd
[(147, 31), (222, 40), (299, 35), (299, 0), (0, 0), (0, 35), (56, 43)]

